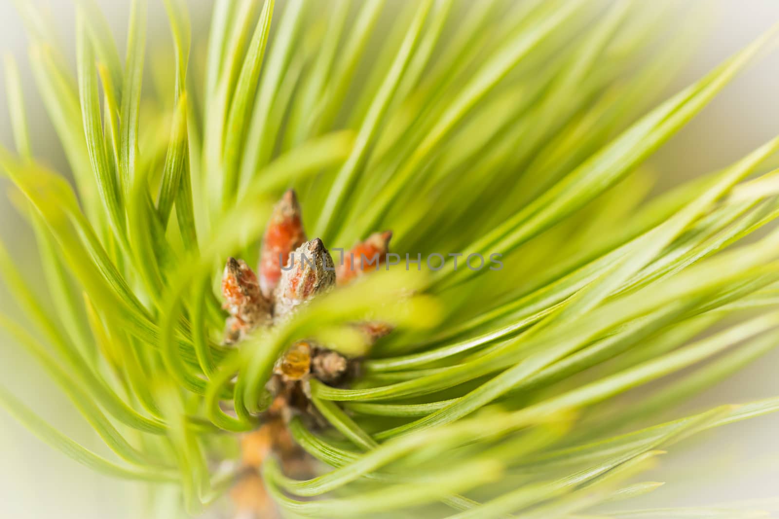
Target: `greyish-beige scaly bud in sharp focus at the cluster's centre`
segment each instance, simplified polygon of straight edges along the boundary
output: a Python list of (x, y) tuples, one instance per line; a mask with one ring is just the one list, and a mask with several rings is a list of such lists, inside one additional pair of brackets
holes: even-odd
[(331, 289), (335, 282), (333, 258), (322, 240), (315, 238), (305, 242), (290, 254), (287, 265), (282, 269), (281, 280), (276, 287), (273, 317), (284, 317), (300, 303)]

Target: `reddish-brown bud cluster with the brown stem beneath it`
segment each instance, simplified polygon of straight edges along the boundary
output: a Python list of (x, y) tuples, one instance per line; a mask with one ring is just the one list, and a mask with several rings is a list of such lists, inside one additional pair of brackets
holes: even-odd
[[(227, 310), (224, 342), (238, 344), (242, 338), (287, 319), (297, 307), (343, 286), (359, 275), (371, 272), (382, 262), (362, 258), (384, 258), (389, 252), (392, 233), (375, 233), (355, 245), (346, 261), (333, 264), (333, 258), (319, 238), (307, 240), (301, 208), (294, 191), (287, 191), (273, 208), (260, 250), (257, 275), (245, 261), (228, 258), (222, 278), (223, 307)], [(392, 326), (381, 322), (354, 323), (368, 344), (390, 333)], [(240, 344), (238, 344), (240, 345)], [(295, 413), (315, 422), (320, 420), (310, 399), (309, 380), (340, 385), (358, 370), (358, 359), (347, 359), (314, 341), (295, 342), (277, 360), (267, 389), (273, 404), (263, 415), (263, 425), (245, 435), (243, 461), (256, 468), (273, 452), (287, 472), (305, 472), (305, 453), (294, 444), (286, 423)], [(302, 468), (302, 469), (301, 469)], [(256, 471), (236, 486), (236, 492), (248, 492), (261, 484)], [(253, 478), (253, 479), (252, 479)], [(259, 512), (259, 509), (257, 510)], [(268, 510), (263, 510), (267, 514)]]

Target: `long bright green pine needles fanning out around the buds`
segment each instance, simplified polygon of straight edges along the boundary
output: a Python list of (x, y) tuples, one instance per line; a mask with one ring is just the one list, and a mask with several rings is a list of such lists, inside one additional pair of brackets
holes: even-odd
[[(674, 2), (215, 0), (206, 41), (165, 0), (171, 52), (147, 47), (133, 0), (120, 58), (79, 0), (75, 71), (17, 3), (37, 96), (7, 59), (16, 149), (0, 168), (46, 289), (0, 247), (24, 315), (0, 328), (111, 454), (12, 387), (0, 404), (76, 461), (174, 485), (187, 514), (668, 519), (694, 510), (598, 507), (656, 489), (637, 476), (661, 449), (779, 410), (673, 415), (779, 341), (779, 171), (764, 167), (779, 139), (661, 195), (642, 166), (773, 34), (659, 100), (692, 47), (675, 20), (696, 18)], [(68, 170), (35, 159), (25, 102), (43, 103)], [(318, 246), (392, 230), (403, 259), (229, 344), (225, 261), (258, 265), (289, 188)], [(470, 254), (503, 268), (466, 268)], [(359, 323), (392, 331), (366, 341)], [(271, 439), (312, 474), (273, 450), (247, 468), (239, 446), (300, 341), (358, 370), (306, 378), (316, 419), (287, 410)], [(249, 496), (220, 499), (247, 477)]]

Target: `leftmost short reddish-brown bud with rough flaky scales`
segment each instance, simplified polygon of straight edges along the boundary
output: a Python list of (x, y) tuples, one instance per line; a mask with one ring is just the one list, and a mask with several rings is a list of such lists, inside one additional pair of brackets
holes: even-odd
[(231, 315), (227, 321), (228, 338), (270, 324), (270, 303), (259, 291), (257, 276), (243, 260), (227, 258), (222, 276), (222, 305)]

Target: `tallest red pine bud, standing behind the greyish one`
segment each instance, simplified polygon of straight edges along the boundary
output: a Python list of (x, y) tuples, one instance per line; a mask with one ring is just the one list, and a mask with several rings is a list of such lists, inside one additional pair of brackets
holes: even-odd
[(290, 189), (273, 208), (263, 236), (259, 258), (259, 288), (263, 296), (272, 298), (281, 279), (281, 267), (287, 265), (290, 253), (304, 242), (300, 205)]

